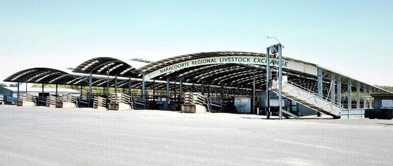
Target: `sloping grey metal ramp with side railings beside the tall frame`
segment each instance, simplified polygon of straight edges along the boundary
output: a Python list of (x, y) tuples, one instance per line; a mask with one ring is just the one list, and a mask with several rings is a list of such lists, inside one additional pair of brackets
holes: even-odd
[[(277, 87), (274, 83), (272, 87)], [(300, 88), (292, 82), (282, 83), (282, 96), (301, 103), (315, 111), (322, 112), (333, 116), (334, 118), (340, 118), (340, 112), (344, 108), (336, 102), (331, 102), (326, 97), (320, 97), (315, 95), (311, 90), (305, 90), (306, 88)], [(272, 91), (279, 93), (277, 88), (272, 88)]]

